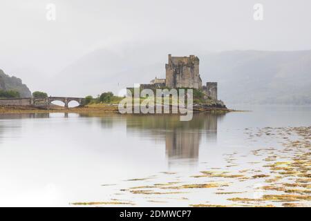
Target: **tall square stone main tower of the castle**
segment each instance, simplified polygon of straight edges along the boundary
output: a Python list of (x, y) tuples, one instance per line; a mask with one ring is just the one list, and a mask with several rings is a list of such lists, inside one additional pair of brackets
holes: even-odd
[(171, 57), (165, 64), (166, 82), (169, 88), (202, 88), (199, 74), (200, 60), (194, 55), (189, 57)]

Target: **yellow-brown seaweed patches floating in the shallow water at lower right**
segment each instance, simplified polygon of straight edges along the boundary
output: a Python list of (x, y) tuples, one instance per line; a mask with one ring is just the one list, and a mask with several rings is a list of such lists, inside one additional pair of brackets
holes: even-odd
[[(173, 172), (160, 173), (166, 182), (156, 182), (157, 175), (124, 180), (116, 195), (131, 200), (117, 203), (75, 202), (74, 205), (137, 205), (188, 202), (188, 206), (310, 206), (311, 205), (311, 126), (280, 128), (245, 128), (249, 140), (275, 140), (276, 147), (258, 148), (248, 154), (223, 155), (223, 168), (210, 166), (187, 177)], [(249, 160), (243, 164), (243, 159)], [(254, 160), (255, 159), (255, 160)], [(240, 166), (239, 168), (236, 168)], [(140, 182), (140, 185), (135, 185)], [(146, 182), (146, 185), (142, 185)], [(134, 186), (133, 186), (134, 184)], [(257, 185), (258, 184), (258, 185)], [(243, 189), (241, 186), (243, 185)], [(191, 194), (199, 197), (189, 200)], [(130, 197), (129, 197), (130, 196)], [(135, 202), (140, 199), (139, 202)], [(222, 200), (219, 200), (221, 198)], [(218, 203), (221, 202), (221, 203)]]

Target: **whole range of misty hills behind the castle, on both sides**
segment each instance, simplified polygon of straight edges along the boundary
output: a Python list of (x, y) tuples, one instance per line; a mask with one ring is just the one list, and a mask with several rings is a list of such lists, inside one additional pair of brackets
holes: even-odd
[[(68, 93), (97, 95), (165, 77), (167, 54), (146, 48), (95, 50), (60, 74)], [(143, 56), (142, 56), (143, 55)], [(182, 56), (183, 54), (174, 54)], [(185, 54), (188, 55), (188, 54)], [(218, 81), (218, 94), (234, 104), (311, 104), (311, 50), (198, 52), (202, 81)], [(60, 76), (59, 75), (59, 76)], [(63, 91), (63, 90), (62, 90)]]

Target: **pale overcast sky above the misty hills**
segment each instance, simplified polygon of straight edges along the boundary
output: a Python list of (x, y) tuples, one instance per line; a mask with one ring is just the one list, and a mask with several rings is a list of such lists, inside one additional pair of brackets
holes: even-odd
[[(55, 21), (46, 19), (48, 3)], [(263, 21), (254, 21), (255, 3), (263, 5)], [(1, 0), (0, 68), (37, 88), (38, 75), (57, 75), (88, 52), (124, 44), (309, 50), (310, 10), (310, 0)]]

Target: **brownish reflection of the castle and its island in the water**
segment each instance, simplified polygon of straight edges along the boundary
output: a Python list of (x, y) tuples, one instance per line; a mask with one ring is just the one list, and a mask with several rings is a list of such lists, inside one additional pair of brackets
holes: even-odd
[(126, 117), (126, 129), (131, 135), (164, 141), (169, 161), (196, 161), (203, 136), (216, 142), (217, 122), (223, 116), (197, 113), (191, 121), (181, 122), (178, 115), (131, 115)]

